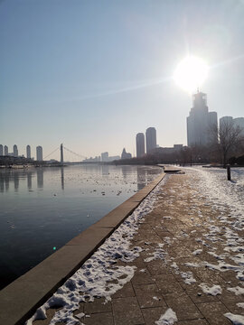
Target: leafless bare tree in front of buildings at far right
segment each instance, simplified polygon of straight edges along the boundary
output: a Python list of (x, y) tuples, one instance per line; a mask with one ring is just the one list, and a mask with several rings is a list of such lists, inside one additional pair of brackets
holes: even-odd
[(239, 152), (244, 143), (243, 135), (244, 129), (231, 120), (221, 120), (219, 128), (218, 125), (211, 125), (211, 145), (220, 151), (223, 167), (226, 167), (230, 153)]

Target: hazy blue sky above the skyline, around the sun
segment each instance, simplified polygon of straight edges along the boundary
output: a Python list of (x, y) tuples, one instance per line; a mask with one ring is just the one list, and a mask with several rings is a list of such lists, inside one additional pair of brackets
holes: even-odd
[(210, 110), (244, 116), (243, 34), (240, 0), (0, 0), (0, 144), (136, 153), (149, 126), (161, 146), (186, 144), (175, 67), (206, 60)]

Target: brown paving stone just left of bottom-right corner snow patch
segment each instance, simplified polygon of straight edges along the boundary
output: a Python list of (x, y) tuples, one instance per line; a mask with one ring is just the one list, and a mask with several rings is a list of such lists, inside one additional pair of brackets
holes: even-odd
[(222, 302), (198, 303), (197, 306), (202, 312), (202, 315), (209, 321), (210, 325), (231, 324), (231, 321), (223, 316), (223, 314), (229, 312), (229, 310)]

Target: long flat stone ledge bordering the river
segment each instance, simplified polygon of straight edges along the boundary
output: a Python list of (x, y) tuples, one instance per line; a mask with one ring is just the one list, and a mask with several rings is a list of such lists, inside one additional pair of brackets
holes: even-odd
[(164, 176), (165, 173), (162, 172), (155, 181), (6, 286), (0, 292), (0, 324), (23, 325), (32, 317), (36, 309), (42, 306), (131, 215)]

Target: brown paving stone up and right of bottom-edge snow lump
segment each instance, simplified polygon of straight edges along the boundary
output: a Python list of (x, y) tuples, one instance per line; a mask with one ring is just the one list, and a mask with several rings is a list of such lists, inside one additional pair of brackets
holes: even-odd
[(164, 295), (164, 300), (176, 312), (178, 320), (203, 318), (202, 313), (184, 292), (168, 293)]

